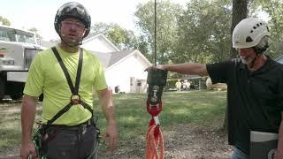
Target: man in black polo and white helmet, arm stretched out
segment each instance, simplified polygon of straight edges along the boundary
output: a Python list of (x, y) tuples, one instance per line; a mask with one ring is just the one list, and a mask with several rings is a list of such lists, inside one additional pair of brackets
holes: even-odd
[(264, 21), (242, 19), (233, 30), (238, 59), (217, 64), (160, 64), (183, 74), (209, 75), (212, 83), (227, 84), (228, 142), (232, 159), (249, 159), (250, 131), (279, 133), (275, 159), (283, 158), (283, 65), (264, 55), (270, 32)]

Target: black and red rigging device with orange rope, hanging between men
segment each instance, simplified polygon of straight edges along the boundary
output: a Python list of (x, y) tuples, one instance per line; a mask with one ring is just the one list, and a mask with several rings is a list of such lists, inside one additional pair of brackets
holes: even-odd
[[(147, 111), (151, 115), (147, 133), (146, 159), (164, 159), (164, 137), (158, 114), (162, 110), (162, 92), (166, 85), (167, 71), (149, 70)], [(159, 149), (159, 152), (158, 152)]]

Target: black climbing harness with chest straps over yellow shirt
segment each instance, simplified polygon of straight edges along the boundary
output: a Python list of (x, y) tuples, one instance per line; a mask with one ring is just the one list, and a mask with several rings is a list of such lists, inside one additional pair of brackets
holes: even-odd
[[(57, 120), (57, 118), (61, 117), (65, 112), (71, 109), (73, 105), (80, 104), (83, 106), (85, 109), (89, 110), (92, 114), (92, 117), (90, 118), (90, 124), (95, 125), (94, 121), (94, 112), (91, 109), (91, 107), (88, 105), (86, 102), (82, 102), (80, 100), (80, 95), (79, 95), (79, 86), (80, 86), (80, 74), (81, 74), (81, 68), (82, 68), (82, 59), (83, 59), (83, 51), (80, 48), (80, 55), (79, 55), (79, 64), (78, 64), (78, 70), (77, 70), (77, 75), (76, 75), (76, 80), (75, 80), (75, 86), (73, 87), (73, 82), (70, 77), (70, 74), (68, 73), (65, 64), (63, 63), (62, 58), (60, 57), (59, 53), (57, 52), (57, 49), (55, 47), (51, 48), (55, 57), (57, 57), (57, 61), (60, 64), (64, 74), (65, 78), (67, 79), (68, 85), (71, 89), (72, 95), (70, 97), (70, 102), (62, 109), (57, 112), (57, 114), (52, 117), (50, 120), (47, 121), (46, 125), (42, 125), (42, 122), (37, 122), (37, 127), (34, 130), (34, 136), (33, 136), (33, 142), (34, 142), (34, 147), (36, 150), (36, 154), (38, 158), (40, 159), (47, 159), (47, 143), (50, 140), (53, 140), (55, 136), (57, 135), (57, 131), (55, 133), (52, 133), (49, 135), (47, 133), (47, 129), (51, 126), (51, 124)], [(100, 131), (98, 128), (96, 128), (96, 143), (94, 146), (93, 152), (87, 157), (87, 159), (90, 159), (97, 151), (99, 147), (99, 142), (100, 142)]]

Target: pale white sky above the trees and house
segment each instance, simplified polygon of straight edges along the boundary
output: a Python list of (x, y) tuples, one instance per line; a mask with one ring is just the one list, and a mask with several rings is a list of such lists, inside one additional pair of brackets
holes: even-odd
[[(57, 39), (54, 19), (57, 9), (70, 0), (1, 0), (0, 16), (9, 19), (12, 27), (37, 28), (43, 40)], [(84, 5), (96, 22), (117, 23), (120, 27), (134, 30), (134, 11), (138, 4), (150, 0), (71, 0)], [(152, 0), (153, 1), (153, 0)], [(172, 0), (185, 5), (189, 0)]]

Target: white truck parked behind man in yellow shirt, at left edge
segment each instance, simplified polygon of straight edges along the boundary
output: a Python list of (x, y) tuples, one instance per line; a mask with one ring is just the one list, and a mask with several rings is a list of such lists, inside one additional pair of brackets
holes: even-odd
[(29, 66), (42, 49), (33, 32), (0, 26), (0, 100), (21, 98)]

